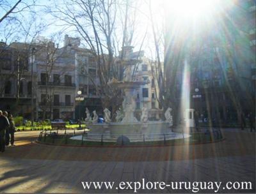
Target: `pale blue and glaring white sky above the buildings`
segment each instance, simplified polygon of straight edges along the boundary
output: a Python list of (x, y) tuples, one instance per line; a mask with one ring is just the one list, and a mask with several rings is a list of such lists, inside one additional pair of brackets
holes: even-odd
[[(5, 23), (2, 22), (0, 24), (0, 39), (3, 39), (4, 41), (6, 40), (7, 42), (13, 40), (26, 41), (31, 38), (35, 38), (35, 36), (45, 36), (46, 38), (53, 38), (55, 41), (60, 43), (60, 46), (62, 46), (65, 34), (68, 34), (69, 36), (77, 36), (78, 34), (74, 31), (74, 28), (69, 28), (66, 31), (63, 31), (63, 33), (60, 33), (60, 31), (63, 30), (63, 22), (56, 20), (50, 13), (47, 13), (47, 6), (53, 6), (54, 3), (60, 5), (61, 1), (62, 0), (37, 0), (37, 6), (31, 8), (32, 11), (35, 11), (35, 16), (32, 19), (31, 13), (29, 13), (28, 9), (25, 9), (22, 13), (17, 13), (15, 15), (19, 18), (20, 22), (22, 22), (22, 25), (20, 25), (20, 22), (15, 22), (13, 20), (12, 26), (6, 25), (6, 22), (8, 22), (7, 20)], [(225, 2), (228, 1), (230, 0)], [(6, 6), (3, 6), (3, 4), (1, 6), (0, 4), (0, 17), (4, 15), (5, 10), (7, 10), (8, 7), (12, 6), (16, 2), (17, 1), (14, 0), (8, 0), (4, 1)], [(32, 0), (23, 0), (22, 2), (23, 3), (19, 4), (17, 9), (20, 10), (24, 8), (26, 4), (33, 3)], [(132, 46), (134, 46), (134, 51), (140, 50), (141, 42), (145, 36), (145, 32), (147, 31), (147, 37), (145, 38), (142, 48), (145, 50), (146, 56), (152, 56), (154, 55), (154, 49), (152, 49), (154, 48), (154, 41), (152, 36), (152, 26), (148, 20), (148, 3), (148, 0), (138, 0), (136, 1), (136, 4), (134, 4), (138, 11), (136, 13), (137, 25), (134, 32), (134, 41), (132, 41)], [(159, 34), (163, 33), (163, 20), (164, 17), (166, 18), (166, 14), (168, 17), (165, 25), (168, 25), (170, 20), (175, 20), (175, 22), (179, 23), (179, 30), (182, 30), (183, 27), (187, 27), (192, 23), (194, 23), (193, 25), (196, 25), (197, 28), (201, 29), (204, 27), (204, 23), (202, 25), (202, 22), (200, 23), (198, 21), (202, 21), (202, 19), (214, 20), (213, 13), (220, 9), (220, 3), (221, 6), (223, 6), (223, 1), (220, 0), (152, 0), (151, 3), (154, 27)], [(24, 33), (24, 31), (26, 32)], [(26, 33), (28, 31), (31, 36), (26, 37)], [(163, 38), (163, 36), (159, 36), (158, 38), (160, 37)], [(161, 39), (159, 39), (159, 41), (161, 41)], [(83, 40), (82, 43), (84, 43)], [(85, 44), (84, 47), (86, 47)]]

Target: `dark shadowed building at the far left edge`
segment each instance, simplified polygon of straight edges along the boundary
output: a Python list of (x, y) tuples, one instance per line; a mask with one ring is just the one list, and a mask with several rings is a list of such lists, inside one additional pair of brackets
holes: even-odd
[(0, 42), (0, 110), (27, 118), (31, 117), (30, 48)]

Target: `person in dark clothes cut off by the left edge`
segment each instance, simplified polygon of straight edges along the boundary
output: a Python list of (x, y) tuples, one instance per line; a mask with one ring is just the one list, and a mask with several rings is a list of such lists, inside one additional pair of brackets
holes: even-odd
[(5, 151), (5, 130), (10, 125), (5, 115), (8, 115), (7, 112), (0, 110), (0, 149), (2, 153)]

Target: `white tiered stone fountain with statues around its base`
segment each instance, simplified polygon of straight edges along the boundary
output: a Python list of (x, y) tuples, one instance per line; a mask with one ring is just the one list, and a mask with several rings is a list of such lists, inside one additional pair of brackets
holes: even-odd
[[(145, 82), (132, 80), (132, 71), (134, 65), (138, 62), (127, 60), (125, 62), (124, 80), (118, 81), (115, 78), (110, 80), (108, 84), (112, 87), (117, 87), (124, 91), (124, 101), (122, 110), (116, 111), (116, 122), (111, 121), (111, 112), (108, 108), (104, 108), (105, 123), (97, 123), (97, 113), (93, 111), (93, 117), (90, 117), (90, 112), (86, 109), (86, 126), (88, 132), (88, 140), (98, 141), (104, 136), (104, 141), (116, 142), (120, 135), (125, 135), (131, 142), (140, 142), (142, 140), (163, 140), (173, 138), (183, 138), (184, 134), (173, 133), (171, 127), (173, 125), (172, 108), (168, 108), (164, 113), (164, 121), (148, 121), (148, 108), (141, 108), (140, 121), (134, 116), (136, 110), (135, 91)], [(163, 135), (164, 134), (164, 135)], [(141, 138), (143, 136), (143, 138)], [(186, 135), (185, 135), (186, 136)], [(189, 137), (189, 136), (188, 136)], [(73, 139), (81, 139), (81, 137), (72, 137)]]

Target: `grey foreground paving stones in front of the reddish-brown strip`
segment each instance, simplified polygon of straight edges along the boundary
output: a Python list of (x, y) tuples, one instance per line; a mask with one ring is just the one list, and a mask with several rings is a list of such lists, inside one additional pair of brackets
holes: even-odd
[[(63, 161), (1, 159), (1, 192), (132, 193), (132, 190), (83, 190), (81, 181), (251, 181), (255, 192), (255, 157), (228, 156), (182, 161)], [(186, 190), (140, 190), (186, 193)], [(225, 190), (221, 190), (225, 192)], [(230, 191), (227, 191), (230, 193)], [(237, 191), (234, 191), (237, 192)], [(248, 191), (243, 191), (248, 192)], [(203, 192), (204, 193), (204, 192)]]

